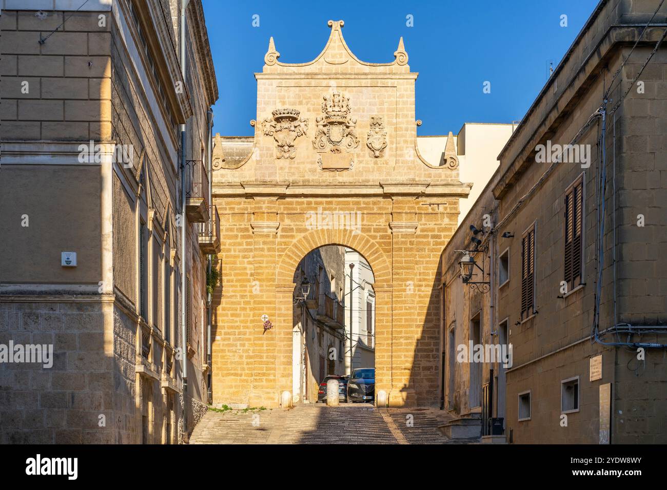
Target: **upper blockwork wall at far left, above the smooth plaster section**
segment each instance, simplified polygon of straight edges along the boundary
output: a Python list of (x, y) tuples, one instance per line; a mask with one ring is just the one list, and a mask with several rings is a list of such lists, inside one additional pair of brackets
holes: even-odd
[[(3, 11), (3, 138), (109, 139), (109, 14)], [(99, 25), (98, 15), (106, 16), (105, 25)], [(41, 36), (46, 37), (61, 24), (57, 32), (39, 43)]]

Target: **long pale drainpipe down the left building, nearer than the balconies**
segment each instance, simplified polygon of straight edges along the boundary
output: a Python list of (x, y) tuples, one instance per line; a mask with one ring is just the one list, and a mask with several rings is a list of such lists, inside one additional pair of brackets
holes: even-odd
[[(183, 0), (181, 3), (181, 75), (185, 83), (185, 9), (190, 0)], [(187, 123), (187, 121), (186, 121)], [(187, 257), (185, 255), (185, 124), (181, 124), (181, 377), (183, 379), (183, 437), (187, 434), (187, 339), (185, 337), (185, 275), (187, 274)]]

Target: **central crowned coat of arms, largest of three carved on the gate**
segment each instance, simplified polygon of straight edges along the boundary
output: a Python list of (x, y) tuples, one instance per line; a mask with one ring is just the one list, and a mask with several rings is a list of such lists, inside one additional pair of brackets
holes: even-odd
[(318, 153), (331, 151), (340, 153), (342, 149), (352, 151), (359, 146), (356, 133), (357, 120), (350, 115), (350, 97), (340, 92), (322, 97), (322, 113), (315, 119), (317, 131), (313, 147)]

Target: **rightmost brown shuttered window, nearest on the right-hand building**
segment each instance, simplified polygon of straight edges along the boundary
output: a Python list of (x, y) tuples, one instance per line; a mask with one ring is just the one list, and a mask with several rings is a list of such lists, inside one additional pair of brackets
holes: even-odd
[(582, 229), (584, 223), (584, 175), (565, 193), (565, 281), (568, 291), (582, 283)]

